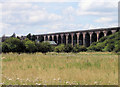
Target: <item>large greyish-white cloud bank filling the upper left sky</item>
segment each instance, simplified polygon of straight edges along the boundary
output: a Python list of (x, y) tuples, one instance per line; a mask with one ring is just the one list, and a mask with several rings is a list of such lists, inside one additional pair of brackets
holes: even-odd
[[(22, 9), (22, 8), (24, 9)], [(62, 16), (55, 13), (48, 13), (45, 8), (30, 3), (5, 3), (3, 9), (3, 20), (12, 24), (43, 24), (56, 22), (62, 19)]]

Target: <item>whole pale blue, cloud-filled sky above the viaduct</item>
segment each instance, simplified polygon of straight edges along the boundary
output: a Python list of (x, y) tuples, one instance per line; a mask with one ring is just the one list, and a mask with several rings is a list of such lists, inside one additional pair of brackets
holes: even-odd
[(0, 36), (118, 26), (119, 0), (0, 0)]

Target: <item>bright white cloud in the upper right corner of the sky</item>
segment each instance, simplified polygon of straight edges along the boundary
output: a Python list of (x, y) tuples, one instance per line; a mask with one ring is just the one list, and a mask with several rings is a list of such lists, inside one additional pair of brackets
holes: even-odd
[(113, 15), (118, 7), (118, 0), (81, 0), (76, 10), (77, 15)]

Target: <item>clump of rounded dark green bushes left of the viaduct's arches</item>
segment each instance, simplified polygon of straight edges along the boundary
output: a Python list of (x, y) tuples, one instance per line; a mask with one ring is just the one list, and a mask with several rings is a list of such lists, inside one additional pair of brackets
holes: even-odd
[(52, 51), (52, 46), (47, 42), (36, 43), (29, 39), (21, 41), (18, 38), (8, 38), (2, 43), (2, 52), (18, 52), (18, 53), (34, 53), (34, 52), (50, 52)]

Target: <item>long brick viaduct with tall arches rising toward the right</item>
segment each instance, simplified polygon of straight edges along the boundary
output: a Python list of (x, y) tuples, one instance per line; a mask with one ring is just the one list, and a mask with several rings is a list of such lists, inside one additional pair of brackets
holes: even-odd
[(37, 40), (55, 41), (57, 44), (79, 44), (90, 46), (92, 42), (97, 42), (101, 37), (108, 36), (120, 30), (120, 27), (101, 28), (91, 30), (81, 30), (73, 32), (60, 32), (36, 35)]

